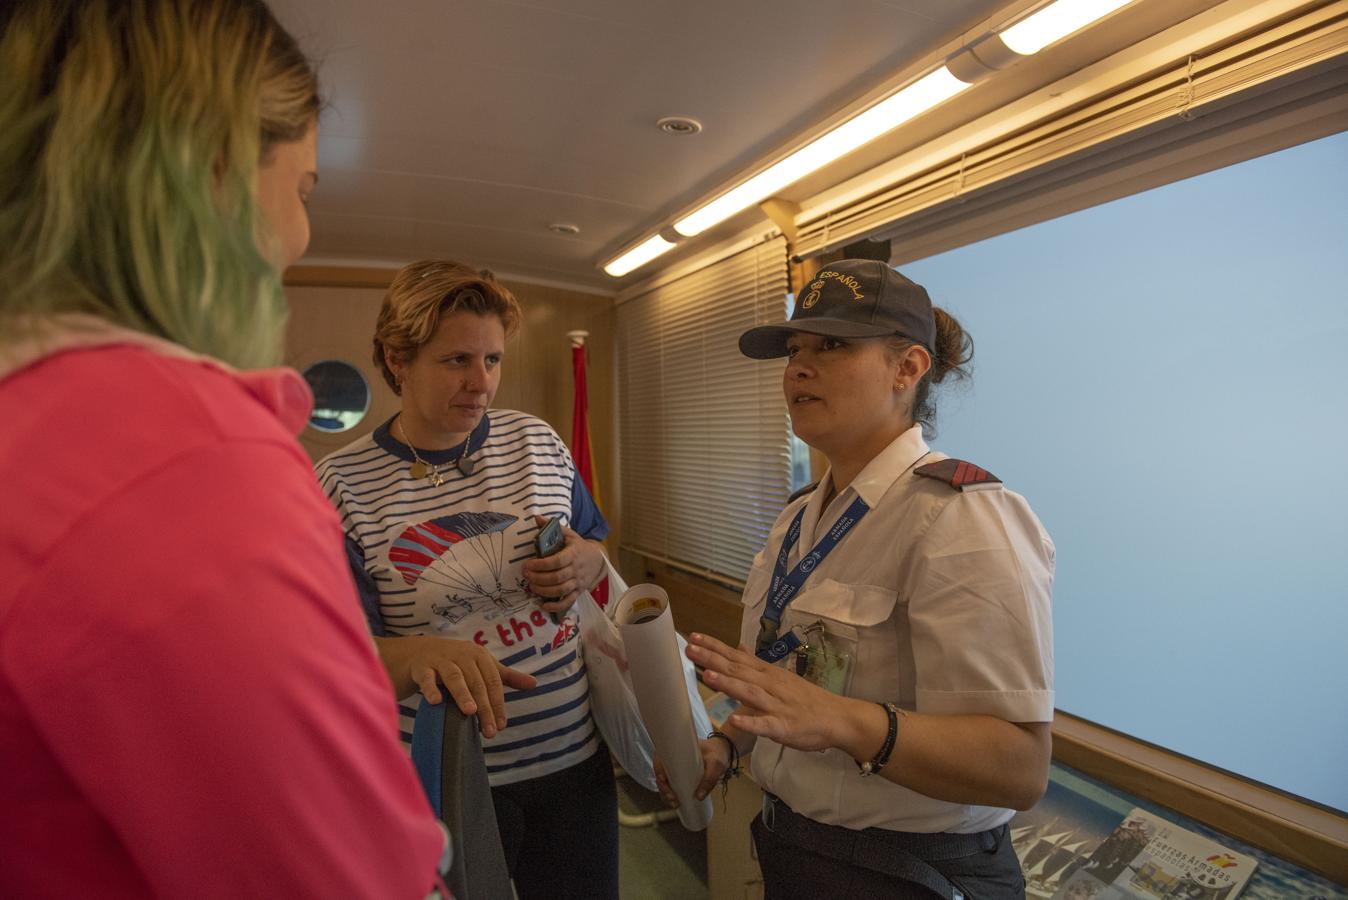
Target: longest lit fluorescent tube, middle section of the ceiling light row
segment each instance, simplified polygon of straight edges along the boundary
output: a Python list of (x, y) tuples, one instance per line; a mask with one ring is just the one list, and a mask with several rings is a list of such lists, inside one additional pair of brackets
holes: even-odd
[(687, 237), (705, 232), (741, 209), (772, 197), (791, 182), (799, 181), (880, 135), (894, 131), (907, 120), (949, 100), (968, 86), (942, 66), (806, 144), (782, 162), (770, 166), (743, 185), (732, 187), (690, 216), (674, 222), (674, 230)]

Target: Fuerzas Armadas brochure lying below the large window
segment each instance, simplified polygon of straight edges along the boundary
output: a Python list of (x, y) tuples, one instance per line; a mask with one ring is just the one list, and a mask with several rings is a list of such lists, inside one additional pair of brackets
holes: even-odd
[(1248, 856), (1132, 810), (1058, 882), (1053, 900), (1235, 900), (1255, 865)]

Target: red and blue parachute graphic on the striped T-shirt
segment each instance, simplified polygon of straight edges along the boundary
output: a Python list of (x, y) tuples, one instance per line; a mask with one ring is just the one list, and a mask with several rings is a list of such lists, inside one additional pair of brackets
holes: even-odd
[[(489, 601), (497, 609), (516, 609), (528, 602), (518, 587), (506, 587), (506, 532), (519, 521), (503, 512), (458, 512), (408, 525), (394, 540), (388, 560), (408, 585), (431, 583), (445, 589), (445, 604), (431, 612), (458, 622), (473, 612), (473, 601)], [(473, 577), (485, 565), (491, 583)], [(519, 594), (519, 597), (516, 597)]]

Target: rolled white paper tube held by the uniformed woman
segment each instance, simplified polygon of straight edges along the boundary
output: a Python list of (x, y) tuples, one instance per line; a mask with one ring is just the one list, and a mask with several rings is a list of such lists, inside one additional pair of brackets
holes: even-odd
[(678, 798), (679, 822), (701, 831), (712, 821), (712, 798), (693, 796), (702, 780), (702, 736), (693, 725), (669, 594), (656, 585), (634, 585), (619, 598), (613, 621), (623, 632), (636, 707)]

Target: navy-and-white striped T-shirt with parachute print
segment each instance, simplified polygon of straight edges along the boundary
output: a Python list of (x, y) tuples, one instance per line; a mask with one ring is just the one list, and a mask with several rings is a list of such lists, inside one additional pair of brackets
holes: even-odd
[[(596, 540), (608, 523), (541, 419), (491, 410), (466, 443), (470, 476), (453, 463), (462, 445), (418, 450), (443, 473), (437, 488), (412, 477), (414, 457), (386, 422), (325, 457), (318, 478), (342, 516), (373, 633), (472, 640), (538, 679), (532, 690), (507, 690), (510, 725), (483, 741), (491, 783), (510, 784), (576, 765), (599, 745), (576, 614), (553, 622), (523, 578), (539, 531), (534, 516), (561, 516)], [(399, 701), (404, 744), (421, 699)]]

